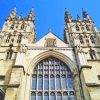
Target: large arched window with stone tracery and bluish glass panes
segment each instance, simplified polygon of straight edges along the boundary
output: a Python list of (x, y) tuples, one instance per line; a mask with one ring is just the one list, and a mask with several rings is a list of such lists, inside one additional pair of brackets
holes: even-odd
[(54, 57), (40, 61), (32, 74), (31, 100), (75, 100), (69, 67)]

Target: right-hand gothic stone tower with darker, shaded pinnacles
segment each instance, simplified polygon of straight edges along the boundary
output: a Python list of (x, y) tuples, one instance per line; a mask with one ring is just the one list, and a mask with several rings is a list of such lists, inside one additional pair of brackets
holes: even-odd
[(73, 47), (84, 100), (100, 99), (100, 33), (82, 9), (83, 19), (65, 12), (64, 40)]

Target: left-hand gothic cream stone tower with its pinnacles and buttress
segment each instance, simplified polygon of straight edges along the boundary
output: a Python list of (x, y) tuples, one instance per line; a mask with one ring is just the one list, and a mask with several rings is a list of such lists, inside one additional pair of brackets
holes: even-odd
[[(11, 100), (9, 96), (15, 96), (13, 92), (18, 91), (24, 73), (22, 66), (14, 66), (17, 54), (22, 52), (20, 48), (25, 48), (25, 42), (34, 43), (35, 38), (33, 9), (27, 18), (22, 18), (21, 15), (16, 18), (14, 8), (0, 32), (0, 89), (5, 100)], [(0, 94), (0, 100), (3, 98)]]

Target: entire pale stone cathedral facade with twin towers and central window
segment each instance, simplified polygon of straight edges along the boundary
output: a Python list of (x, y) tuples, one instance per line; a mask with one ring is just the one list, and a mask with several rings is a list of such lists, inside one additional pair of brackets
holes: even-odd
[(0, 31), (0, 100), (100, 100), (100, 32), (82, 15), (65, 12), (64, 40), (37, 41), (34, 10), (14, 8)]

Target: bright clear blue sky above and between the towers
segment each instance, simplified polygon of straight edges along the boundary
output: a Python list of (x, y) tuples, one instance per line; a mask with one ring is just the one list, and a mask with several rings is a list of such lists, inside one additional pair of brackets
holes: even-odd
[(17, 8), (17, 16), (22, 13), (24, 17), (34, 7), (37, 39), (49, 30), (63, 39), (65, 8), (70, 10), (74, 19), (77, 14), (82, 18), (81, 8), (84, 8), (100, 29), (100, 0), (0, 0), (1, 28), (14, 7)]

